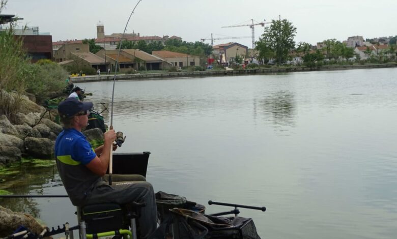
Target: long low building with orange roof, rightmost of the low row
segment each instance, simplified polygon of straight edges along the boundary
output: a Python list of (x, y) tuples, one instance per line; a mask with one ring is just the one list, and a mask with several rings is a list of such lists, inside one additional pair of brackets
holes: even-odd
[(200, 66), (200, 56), (190, 55), (174, 51), (152, 51), (152, 55), (176, 67)]

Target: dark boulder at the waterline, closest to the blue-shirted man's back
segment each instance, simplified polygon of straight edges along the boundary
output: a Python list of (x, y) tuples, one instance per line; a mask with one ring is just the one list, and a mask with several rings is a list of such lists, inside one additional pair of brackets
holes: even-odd
[[(48, 133), (49, 134), (49, 133)], [(54, 153), (54, 142), (47, 138), (25, 138), (26, 152), (40, 159), (51, 159)]]

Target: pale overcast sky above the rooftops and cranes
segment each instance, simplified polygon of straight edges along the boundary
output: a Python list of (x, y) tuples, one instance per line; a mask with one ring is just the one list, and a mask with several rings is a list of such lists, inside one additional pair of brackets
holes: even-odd
[[(15, 14), (20, 24), (39, 26), (53, 41), (96, 38), (96, 24), (105, 34), (122, 33), (137, 0), (9, 0), (2, 14)], [(397, 35), (397, 0), (143, 0), (132, 16), (127, 33), (140, 36), (179, 36), (194, 42), (201, 38), (250, 37), (250, 19), (261, 22), (288, 19), (297, 28), (295, 42), (316, 44), (325, 39), (343, 41)], [(258, 40), (264, 28), (255, 26)], [(210, 43), (210, 41), (206, 41)], [(251, 47), (251, 39), (217, 40), (214, 44), (238, 42)]]

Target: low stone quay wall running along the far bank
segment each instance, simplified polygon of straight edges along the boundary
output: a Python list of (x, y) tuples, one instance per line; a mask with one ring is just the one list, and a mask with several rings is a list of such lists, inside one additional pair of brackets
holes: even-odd
[[(235, 75), (256, 75), (256, 74), (277, 74), (290, 72), (308, 72), (308, 71), (336, 71), (336, 70), (353, 70), (353, 69), (377, 69), (393, 68), (397, 63), (379, 64), (379, 65), (352, 65), (352, 66), (321, 66), (321, 67), (286, 67), (286, 68), (263, 68), (263, 69), (246, 69), (246, 70), (220, 70), (220, 71), (191, 71), (191, 72), (164, 72), (148, 74), (130, 74), (117, 75), (117, 80), (145, 80), (145, 79), (164, 79), (164, 78), (183, 78), (183, 77), (205, 77), (205, 76), (235, 76)], [(111, 81), (113, 75), (94, 75), (73, 77), (73, 83)]]

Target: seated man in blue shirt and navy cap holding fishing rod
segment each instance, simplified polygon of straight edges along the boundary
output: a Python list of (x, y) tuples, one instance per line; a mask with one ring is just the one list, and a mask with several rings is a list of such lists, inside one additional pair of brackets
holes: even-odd
[[(66, 192), (73, 205), (113, 202), (128, 204), (146, 202), (138, 219), (141, 238), (147, 238), (157, 225), (156, 199), (153, 187), (141, 176), (141, 181), (117, 182), (113, 175), (111, 186), (102, 178), (109, 166), (110, 147), (116, 139), (114, 130), (103, 134), (104, 144), (93, 150), (81, 133), (88, 125), (92, 102), (68, 98), (58, 105), (64, 130), (55, 141), (54, 155)], [(116, 150), (116, 146), (113, 147)]]

